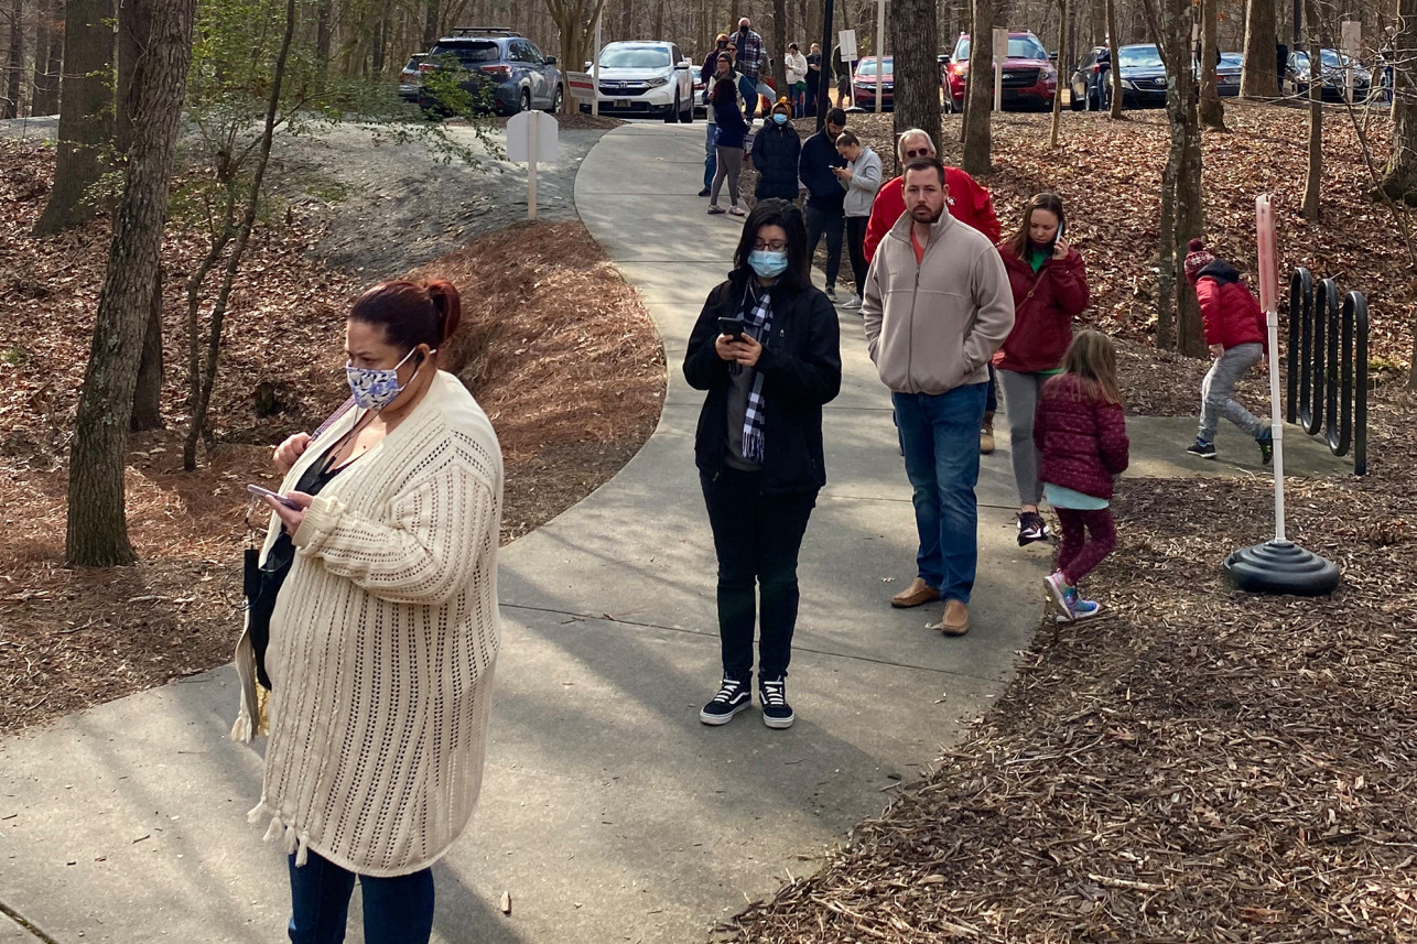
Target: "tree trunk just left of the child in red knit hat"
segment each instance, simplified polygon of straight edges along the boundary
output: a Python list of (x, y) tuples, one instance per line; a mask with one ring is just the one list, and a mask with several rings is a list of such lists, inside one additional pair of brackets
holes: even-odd
[(1200, 116), (1196, 111), (1196, 79), (1192, 69), (1190, 0), (1146, 0), (1146, 14), (1156, 48), (1166, 67), (1166, 119), (1170, 147), (1162, 173), (1161, 266), (1158, 278), (1156, 346), (1176, 347), (1202, 357), (1206, 340), (1200, 330), (1200, 308), (1185, 278), (1186, 247), (1204, 228), (1200, 197)]

